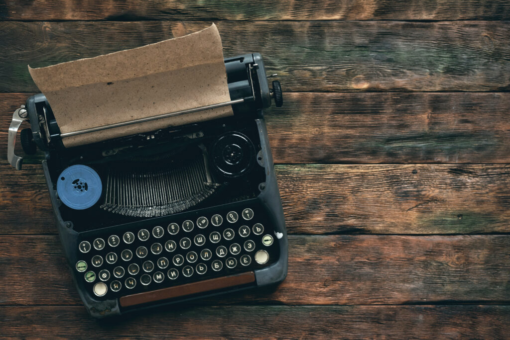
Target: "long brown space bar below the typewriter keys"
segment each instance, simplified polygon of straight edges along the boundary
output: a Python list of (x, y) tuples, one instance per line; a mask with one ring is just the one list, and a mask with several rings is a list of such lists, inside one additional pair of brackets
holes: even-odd
[(180, 296), (187, 296), (208, 291), (215, 291), (228, 287), (240, 286), (255, 282), (255, 273), (247, 272), (232, 276), (211, 278), (193, 282), (191, 284), (158, 289), (156, 291), (122, 296), (119, 301), (122, 307), (134, 306), (141, 303), (154, 302), (158, 300), (172, 299)]

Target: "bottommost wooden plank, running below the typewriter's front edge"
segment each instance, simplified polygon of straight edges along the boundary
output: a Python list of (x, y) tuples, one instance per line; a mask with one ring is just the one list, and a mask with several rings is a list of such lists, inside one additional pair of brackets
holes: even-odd
[[(161, 308), (97, 323), (84, 308), (0, 307), (5, 338), (505, 338), (509, 306), (220, 306)], [(106, 324), (108, 327), (105, 327)]]

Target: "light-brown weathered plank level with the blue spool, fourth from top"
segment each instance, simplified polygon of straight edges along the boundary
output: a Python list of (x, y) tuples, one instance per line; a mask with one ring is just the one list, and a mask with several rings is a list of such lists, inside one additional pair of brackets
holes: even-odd
[[(40, 165), (0, 165), (0, 234), (56, 234)], [(510, 232), (510, 165), (277, 165), (291, 234)]]

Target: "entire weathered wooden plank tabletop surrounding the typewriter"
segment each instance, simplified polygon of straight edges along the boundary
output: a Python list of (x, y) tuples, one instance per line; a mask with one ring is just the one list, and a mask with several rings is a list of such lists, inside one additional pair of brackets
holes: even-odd
[(47, 66), (218, 25), (259, 51), (289, 232), (276, 290), (97, 323), (40, 167), (0, 161), (0, 336), (509, 338), (510, 3), (0, 1), (0, 154)]

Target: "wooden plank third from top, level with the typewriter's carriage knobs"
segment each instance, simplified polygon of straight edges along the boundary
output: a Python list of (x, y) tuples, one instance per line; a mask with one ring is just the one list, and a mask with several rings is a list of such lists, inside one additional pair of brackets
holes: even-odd
[[(0, 140), (29, 95), (0, 94)], [(286, 93), (265, 117), (276, 163), (510, 162), (510, 93)]]

